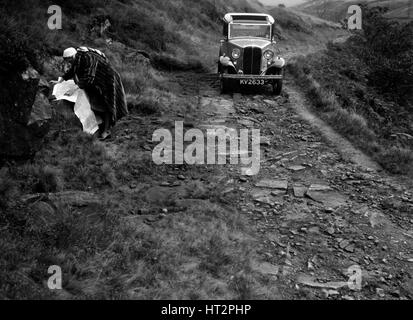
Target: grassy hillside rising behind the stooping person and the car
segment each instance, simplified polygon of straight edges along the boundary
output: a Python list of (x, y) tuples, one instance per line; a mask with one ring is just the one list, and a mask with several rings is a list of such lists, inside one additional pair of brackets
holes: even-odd
[[(24, 69), (30, 62), (47, 80), (56, 79), (60, 74), (56, 65), (66, 47), (91, 46), (113, 61), (124, 79), (130, 101), (158, 94), (154, 89), (164, 89), (163, 83), (167, 81), (158, 71), (215, 70), (223, 15), (230, 11), (265, 10), (257, 0), (209, 0), (196, 4), (189, 0), (128, 0), (110, 4), (103, 0), (58, 0), (56, 4), (63, 10), (62, 30), (47, 28), (47, 6), (39, 0), (24, 4), (2, 1), (0, 17), (4, 23), (0, 37), (3, 42), (14, 41), (11, 48), (0, 50), (2, 63), (8, 61), (4, 68), (0, 66), (4, 74), (7, 70)], [(272, 8), (270, 13), (277, 21), (280, 47), (285, 50), (325, 43), (337, 30), (332, 23), (293, 10)], [(109, 26), (101, 31), (106, 21)], [(149, 55), (150, 68), (136, 65), (145, 60), (140, 51)], [(151, 92), (144, 93), (146, 88)]]

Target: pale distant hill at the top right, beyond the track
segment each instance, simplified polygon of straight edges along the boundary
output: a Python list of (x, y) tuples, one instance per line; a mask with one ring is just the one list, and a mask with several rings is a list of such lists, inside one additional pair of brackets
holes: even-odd
[(369, 6), (388, 7), (386, 16), (396, 20), (413, 20), (413, 3), (410, 0), (308, 0), (294, 8), (323, 19), (339, 22), (347, 17), (352, 4), (367, 3)]

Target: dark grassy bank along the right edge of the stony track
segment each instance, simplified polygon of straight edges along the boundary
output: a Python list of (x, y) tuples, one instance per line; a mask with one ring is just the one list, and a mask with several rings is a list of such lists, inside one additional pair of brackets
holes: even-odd
[[(374, 86), (372, 75), (377, 69), (372, 70), (365, 61), (363, 50), (353, 37), (330, 44), (325, 52), (297, 58), (289, 72), (323, 120), (389, 172), (412, 176), (410, 97)], [(382, 82), (388, 81), (390, 74)], [(397, 86), (401, 78), (396, 75), (394, 79)]]

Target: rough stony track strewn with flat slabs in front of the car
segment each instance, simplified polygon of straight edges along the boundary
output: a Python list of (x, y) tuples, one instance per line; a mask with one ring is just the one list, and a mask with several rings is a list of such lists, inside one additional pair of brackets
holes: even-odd
[[(181, 191), (200, 185), (247, 221), (240, 237), (254, 243), (251, 272), (276, 289), (266, 298), (413, 298), (410, 186), (387, 177), (311, 115), (288, 80), (280, 97), (265, 89), (220, 95), (213, 75), (177, 74), (173, 82), (182, 89), (178, 98), (193, 108), (161, 120), (132, 114), (105, 144), (109, 154), (122, 159), (130, 141), (139, 140), (137, 154), (149, 157), (153, 130), (172, 129), (174, 119), (186, 129), (260, 129), (261, 170), (249, 177), (230, 164), (163, 167), (146, 184), (126, 187), (144, 194), (146, 211), (137, 213), (142, 222), (156, 231), (162, 219), (197, 198)], [(361, 280), (361, 288), (349, 288), (349, 279)]]

